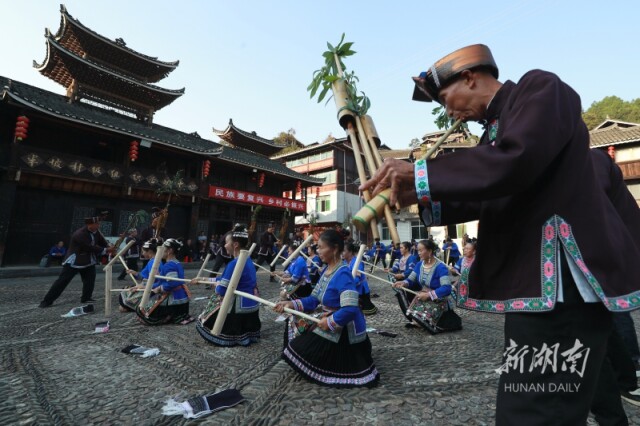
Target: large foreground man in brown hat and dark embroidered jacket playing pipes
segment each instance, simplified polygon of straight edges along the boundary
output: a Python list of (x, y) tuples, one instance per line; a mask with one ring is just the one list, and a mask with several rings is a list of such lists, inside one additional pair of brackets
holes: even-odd
[(640, 307), (640, 263), (627, 261), (640, 249), (598, 185), (577, 93), (540, 70), (497, 78), (483, 45), (415, 78), (414, 99), (480, 121), (481, 142), (415, 165), (387, 159), (360, 190), (417, 198), (427, 226), (480, 220), (458, 303), (507, 313), (497, 424), (585, 424), (611, 311)]

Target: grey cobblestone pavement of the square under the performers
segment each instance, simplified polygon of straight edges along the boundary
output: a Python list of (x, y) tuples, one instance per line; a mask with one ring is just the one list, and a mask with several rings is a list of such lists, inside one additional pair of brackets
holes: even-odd
[[(195, 275), (188, 270), (187, 276)], [(262, 296), (277, 288), (258, 274)], [(311, 384), (280, 358), (282, 323), (262, 308), (262, 339), (248, 348), (217, 348), (195, 325), (145, 327), (135, 314), (118, 312), (117, 293), (108, 333), (95, 334), (104, 319), (104, 274), (99, 273), (93, 315), (61, 318), (80, 306), (75, 278), (48, 309), (38, 303), (55, 277), (0, 280), (0, 424), (165, 425), (186, 424), (160, 413), (167, 398), (180, 401), (216, 389), (238, 388), (246, 402), (198, 424), (232, 425), (485, 425), (494, 423), (503, 318), (459, 311), (464, 329), (432, 336), (406, 329), (392, 291), (370, 280), (380, 309), (368, 326), (398, 333), (370, 333), (381, 374), (374, 389), (336, 390)], [(114, 281), (114, 286), (121, 286)], [(210, 294), (202, 286), (193, 297)], [(195, 316), (206, 300), (191, 303)], [(634, 313), (636, 324), (640, 315)], [(160, 349), (153, 358), (120, 352), (129, 344)], [(631, 424), (640, 408), (624, 403)], [(589, 423), (595, 424), (593, 420)]]

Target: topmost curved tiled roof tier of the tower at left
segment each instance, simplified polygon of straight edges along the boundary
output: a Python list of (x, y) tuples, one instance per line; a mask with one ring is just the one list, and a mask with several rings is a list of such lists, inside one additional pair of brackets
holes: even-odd
[(147, 56), (126, 47), (123, 43), (109, 40), (106, 37), (92, 31), (82, 25), (78, 19), (67, 12), (64, 5), (60, 5), (60, 28), (56, 33), (56, 39), (66, 40), (73, 38), (89, 55), (109, 63), (126, 64), (137, 70), (142, 75), (155, 82), (166, 77), (173, 71), (180, 61), (165, 62), (156, 57)]

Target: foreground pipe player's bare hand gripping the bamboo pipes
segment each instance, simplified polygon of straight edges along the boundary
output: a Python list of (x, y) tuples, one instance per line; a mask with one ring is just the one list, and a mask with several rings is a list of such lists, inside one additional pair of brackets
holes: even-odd
[(390, 204), (396, 202), (400, 207), (410, 206), (416, 203), (416, 188), (413, 164), (395, 158), (387, 158), (382, 167), (358, 188), (360, 191), (371, 190), (371, 196), (391, 188), (389, 194)]

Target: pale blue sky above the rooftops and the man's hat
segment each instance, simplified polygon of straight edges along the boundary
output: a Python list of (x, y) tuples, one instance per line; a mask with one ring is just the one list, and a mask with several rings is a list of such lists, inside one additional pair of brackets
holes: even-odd
[[(0, 75), (58, 94), (65, 89), (33, 68), (46, 56), (45, 28), (60, 25), (60, 0), (0, 0)], [(213, 141), (233, 119), (271, 139), (295, 131), (304, 144), (344, 136), (331, 100), (307, 86), (323, 65), (327, 42), (342, 33), (357, 53), (345, 59), (371, 100), (383, 143), (405, 149), (437, 130), (434, 104), (414, 102), (412, 76), (460, 47), (488, 45), (500, 80), (531, 69), (552, 71), (581, 96), (583, 109), (606, 96), (640, 97), (634, 0), (221, 1), (66, 0), (83, 25), (127, 47), (180, 65), (157, 83), (185, 94), (154, 122)], [(479, 134), (477, 125), (470, 126)]]

